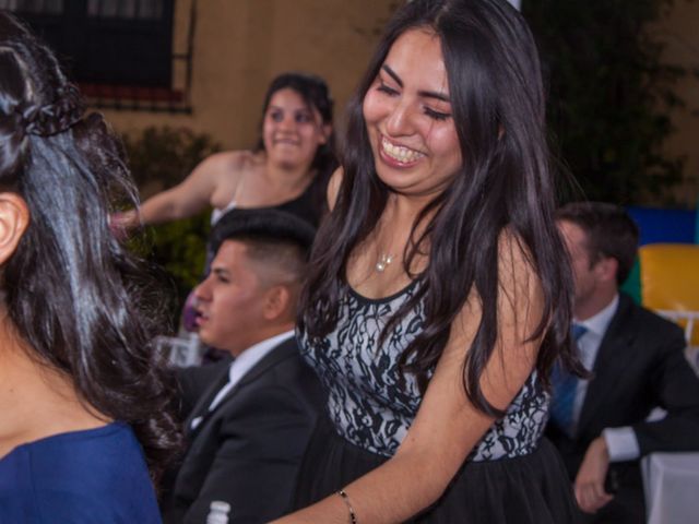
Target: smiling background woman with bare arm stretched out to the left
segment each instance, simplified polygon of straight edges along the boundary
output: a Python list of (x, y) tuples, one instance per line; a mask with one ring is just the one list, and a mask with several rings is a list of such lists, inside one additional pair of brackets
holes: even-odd
[(234, 207), (275, 207), (317, 227), (336, 167), (332, 108), (321, 78), (280, 74), (264, 96), (254, 151), (210, 156), (178, 186), (150, 198), (138, 211), (117, 214), (115, 225), (161, 224), (212, 206), (212, 224)]

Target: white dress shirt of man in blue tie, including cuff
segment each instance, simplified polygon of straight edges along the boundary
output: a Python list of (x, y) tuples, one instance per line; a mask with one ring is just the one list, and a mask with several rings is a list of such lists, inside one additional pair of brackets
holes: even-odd
[[(576, 323), (584, 325), (588, 331), (578, 340), (578, 350), (580, 352), (580, 360), (582, 365), (589, 371), (594, 369), (594, 362), (597, 359), (597, 353), (600, 352), (600, 345), (602, 338), (604, 338), (607, 327), (616, 313), (619, 306), (619, 296), (616, 295), (614, 299), (602, 311), (584, 321), (577, 321)], [(588, 393), (587, 380), (579, 380), (576, 389), (576, 398), (572, 407), (573, 427), (578, 426), (580, 420), (580, 412)], [(602, 431), (607, 450), (609, 452), (609, 462), (623, 462), (638, 458), (641, 454), (638, 445), (638, 439), (633, 429), (625, 426), (620, 428), (606, 428)]]

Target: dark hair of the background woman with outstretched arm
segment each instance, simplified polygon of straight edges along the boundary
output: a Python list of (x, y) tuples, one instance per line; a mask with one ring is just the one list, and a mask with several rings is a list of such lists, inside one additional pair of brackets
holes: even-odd
[[(311, 169), (316, 171), (312, 181), (312, 196), (316, 209), (324, 210), (325, 206), (325, 189), (330, 176), (337, 168), (336, 155), (336, 138), (335, 128), (333, 126), (333, 107), (334, 100), (330, 95), (330, 88), (323, 79), (316, 74), (286, 72), (275, 76), (264, 94), (264, 103), (262, 104), (262, 122), (260, 123), (260, 132), (262, 130), (264, 115), (270, 107), (270, 100), (274, 93), (282, 90), (293, 90), (301, 97), (310, 109), (317, 109), (322, 118), (322, 123), (331, 126), (331, 133), (324, 144), (318, 146), (316, 156), (311, 163)], [(257, 151), (264, 151), (264, 141), (260, 135)]]

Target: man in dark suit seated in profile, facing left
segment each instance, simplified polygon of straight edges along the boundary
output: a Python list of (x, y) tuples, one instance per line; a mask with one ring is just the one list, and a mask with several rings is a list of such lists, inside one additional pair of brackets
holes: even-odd
[(211, 273), (196, 291), (201, 340), (233, 361), (180, 373), (188, 449), (163, 504), (166, 523), (230, 523), (288, 509), (323, 394), (294, 337), (313, 230), (276, 211), (233, 211), (212, 234)]

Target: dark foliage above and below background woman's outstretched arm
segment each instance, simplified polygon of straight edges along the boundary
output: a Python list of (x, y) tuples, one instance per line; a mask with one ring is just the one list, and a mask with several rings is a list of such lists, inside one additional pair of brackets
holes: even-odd
[[(125, 136), (123, 142), (143, 199), (149, 188), (151, 192), (162, 191), (181, 182), (201, 160), (220, 150), (209, 135), (182, 128), (151, 127)], [(206, 210), (192, 218), (149, 227), (146, 231), (147, 257), (171, 276), (180, 302), (202, 275), (210, 214), (211, 210)]]

